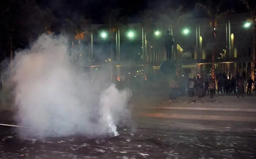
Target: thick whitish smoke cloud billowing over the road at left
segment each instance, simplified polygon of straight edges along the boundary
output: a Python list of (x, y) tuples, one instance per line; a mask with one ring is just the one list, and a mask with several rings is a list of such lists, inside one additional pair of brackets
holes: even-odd
[(107, 85), (105, 70), (88, 80), (88, 73), (73, 66), (63, 36), (40, 36), (16, 55), (12, 68), (15, 120), (39, 128), (17, 129), (20, 137), (117, 135), (116, 125), (130, 114), (130, 92)]

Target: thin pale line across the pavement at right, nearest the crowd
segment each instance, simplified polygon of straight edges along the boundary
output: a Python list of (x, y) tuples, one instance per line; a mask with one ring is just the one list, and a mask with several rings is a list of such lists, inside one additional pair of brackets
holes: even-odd
[(208, 110), (208, 111), (244, 111), (244, 112), (256, 112), (256, 109), (243, 109), (243, 108), (150, 107), (150, 109), (169, 109), (169, 110)]

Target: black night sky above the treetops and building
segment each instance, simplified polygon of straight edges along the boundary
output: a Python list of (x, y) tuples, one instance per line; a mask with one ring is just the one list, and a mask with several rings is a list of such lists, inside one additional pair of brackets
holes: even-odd
[[(205, 0), (201, 0), (202, 2)], [(238, 0), (226, 0), (225, 6), (233, 8), (236, 12), (244, 12), (246, 9)], [(36, 0), (43, 8), (50, 8), (59, 18), (72, 18), (81, 14), (87, 15), (93, 21), (99, 21), (104, 14), (104, 8), (121, 8), (125, 16), (137, 18), (144, 9), (159, 10), (166, 6), (183, 5), (186, 11), (193, 12), (195, 17), (202, 13), (195, 9), (198, 0)], [(200, 2), (200, 0), (199, 0)]]

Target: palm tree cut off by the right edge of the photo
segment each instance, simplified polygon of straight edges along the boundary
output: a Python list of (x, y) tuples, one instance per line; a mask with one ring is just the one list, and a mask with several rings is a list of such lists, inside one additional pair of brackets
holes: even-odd
[(253, 28), (253, 41), (252, 41), (252, 72), (251, 72), (251, 77), (254, 80), (255, 79), (255, 56), (256, 56), (256, 3), (255, 1), (249, 1), (249, 0), (240, 0), (245, 7), (247, 8), (247, 10), (250, 12), (251, 14), (251, 22), (253, 24), (252, 28)]

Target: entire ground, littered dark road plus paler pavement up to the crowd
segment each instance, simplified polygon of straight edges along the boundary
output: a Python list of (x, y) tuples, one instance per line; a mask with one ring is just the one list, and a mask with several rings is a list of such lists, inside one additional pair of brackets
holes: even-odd
[(132, 107), (136, 128), (119, 128), (117, 137), (19, 139), (12, 128), (0, 126), (0, 158), (256, 158), (254, 97), (161, 101), (141, 97)]

